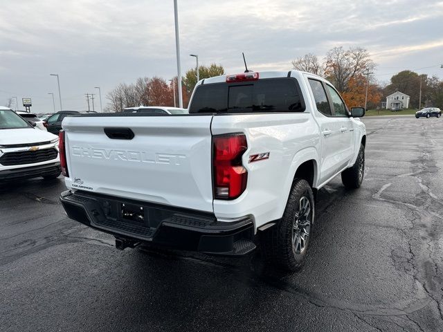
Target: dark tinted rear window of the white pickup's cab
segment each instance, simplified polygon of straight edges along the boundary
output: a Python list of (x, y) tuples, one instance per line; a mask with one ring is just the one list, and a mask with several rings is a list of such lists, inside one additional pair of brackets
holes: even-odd
[(189, 113), (303, 112), (305, 102), (293, 77), (197, 86)]

